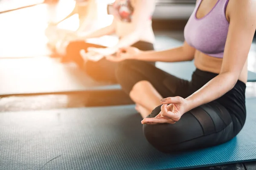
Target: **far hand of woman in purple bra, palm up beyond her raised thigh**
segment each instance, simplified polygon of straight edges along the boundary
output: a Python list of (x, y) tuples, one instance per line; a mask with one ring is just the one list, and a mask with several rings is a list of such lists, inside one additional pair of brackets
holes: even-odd
[(136, 59), (137, 55), (140, 54), (142, 51), (140, 51), (138, 48), (135, 47), (126, 47), (126, 48), (120, 48), (116, 55), (110, 55), (106, 58), (113, 62), (119, 62), (125, 59)]

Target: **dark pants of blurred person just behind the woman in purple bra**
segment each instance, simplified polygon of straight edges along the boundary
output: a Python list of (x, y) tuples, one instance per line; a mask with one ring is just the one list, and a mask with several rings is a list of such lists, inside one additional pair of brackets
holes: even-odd
[[(153, 44), (149, 42), (139, 41), (132, 46), (139, 48), (143, 51), (154, 50)], [(64, 56), (63, 61), (75, 62), (77, 65), (79, 65), (80, 68), (82, 68), (90, 77), (92, 77), (96, 81), (116, 83), (117, 81), (115, 76), (115, 70), (118, 63), (108, 61), (105, 58), (100, 59), (97, 62), (84, 62), (80, 55), (80, 50), (84, 49), (85, 51), (87, 51), (88, 47), (105, 48), (105, 46), (90, 44), (84, 41), (70, 42), (66, 49), (67, 55)]]

